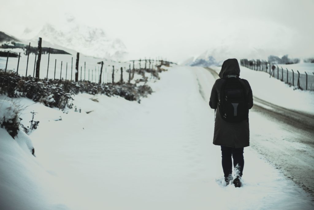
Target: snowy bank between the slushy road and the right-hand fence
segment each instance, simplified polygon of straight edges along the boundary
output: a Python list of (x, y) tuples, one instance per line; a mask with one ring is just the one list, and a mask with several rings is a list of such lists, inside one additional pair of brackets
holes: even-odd
[[(220, 66), (211, 68), (217, 73), (221, 69)], [(240, 69), (240, 77), (249, 81), (253, 95), (257, 98), (281, 107), (314, 115), (314, 91), (294, 90), (293, 87), (289, 87), (288, 84), (277, 78), (269, 77), (266, 72), (254, 71), (244, 66), (241, 66)]]

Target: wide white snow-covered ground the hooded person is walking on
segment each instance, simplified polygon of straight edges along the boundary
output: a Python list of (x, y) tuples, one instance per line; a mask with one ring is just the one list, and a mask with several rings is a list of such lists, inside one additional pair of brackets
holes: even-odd
[[(155, 92), (141, 104), (79, 94), (73, 104), (82, 113), (65, 114), (30, 99), (14, 99), (28, 106), (21, 116), (25, 124), (30, 111), (37, 112), (39, 127), (30, 134), (36, 157), (16, 143), (27, 138), (22, 131), (15, 141), (0, 128), (0, 206), (313, 209), (311, 198), (251, 147), (244, 150), (243, 187), (222, 184), (220, 148), (212, 144), (214, 111), (207, 99), (215, 79), (201, 81), (205, 78), (201, 71), (201, 67), (169, 68), (160, 81), (150, 84)], [(249, 71), (241, 67), (243, 75)], [(257, 86), (250, 83), (257, 93)], [(259, 117), (250, 116), (256, 141), (264, 138), (255, 135)], [(263, 128), (269, 136), (272, 126)]]

